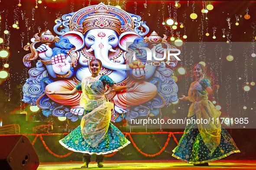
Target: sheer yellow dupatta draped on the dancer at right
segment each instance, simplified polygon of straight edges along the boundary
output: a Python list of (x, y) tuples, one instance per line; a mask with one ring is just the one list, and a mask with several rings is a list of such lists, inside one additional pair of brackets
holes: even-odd
[(188, 99), (193, 103), (189, 107), (188, 117), (196, 114), (196, 118), (201, 120), (198, 123), (198, 130), (205, 145), (213, 153), (220, 144), (221, 126), (219, 116), (221, 112), (216, 109), (211, 101), (207, 100), (207, 91), (201, 86), (201, 80), (191, 83), (189, 88)]

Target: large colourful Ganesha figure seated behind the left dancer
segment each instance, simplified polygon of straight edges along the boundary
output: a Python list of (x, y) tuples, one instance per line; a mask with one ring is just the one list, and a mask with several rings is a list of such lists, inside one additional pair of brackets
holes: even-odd
[[(54, 27), (59, 37), (45, 31), (40, 37), (36, 34), (34, 42), (25, 47), (32, 51), (23, 58), (26, 66), (29, 67), (30, 62), (38, 57), (40, 61), (36, 68), (29, 70), (30, 78), (23, 86), (23, 101), (42, 108), (45, 116), (52, 114), (78, 120), (84, 113), (79, 105), (81, 93), (65, 96), (49, 95), (43, 91), (72, 90), (84, 77), (91, 76), (89, 63), (97, 58), (102, 62), (100, 75), (109, 76), (117, 85), (125, 85), (128, 80), (136, 82), (133, 88), (120, 92), (106, 86), (106, 97), (114, 103), (112, 121), (158, 115), (162, 107), (178, 100), (178, 87), (171, 78), (172, 70), (163, 65), (129, 67), (134, 63), (134, 49), (148, 47), (148, 42), (166, 42), (166, 36), (162, 39), (156, 32), (149, 38), (142, 37), (149, 28), (140, 20), (139, 16), (103, 3), (63, 15), (62, 22), (58, 21)], [(35, 48), (39, 42), (41, 45)], [(55, 47), (52, 47), (53, 43)], [(126, 47), (128, 43), (130, 46)], [(157, 56), (163, 56), (161, 46), (150, 48)], [(135, 55), (136, 60), (159, 62), (146, 60), (144, 53), (140, 50)], [(173, 62), (177, 64), (177, 60), (173, 59)]]

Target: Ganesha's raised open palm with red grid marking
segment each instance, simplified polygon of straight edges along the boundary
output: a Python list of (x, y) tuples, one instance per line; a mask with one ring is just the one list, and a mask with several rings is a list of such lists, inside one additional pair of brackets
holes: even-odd
[(65, 59), (64, 54), (58, 54), (52, 57), (52, 69), (56, 74), (67, 74), (70, 70), (70, 63)]

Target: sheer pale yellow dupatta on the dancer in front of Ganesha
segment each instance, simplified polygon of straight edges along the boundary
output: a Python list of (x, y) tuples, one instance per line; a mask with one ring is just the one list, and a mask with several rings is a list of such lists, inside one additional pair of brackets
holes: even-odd
[(97, 146), (107, 133), (113, 109), (113, 104), (104, 96), (104, 85), (99, 79), (100, 76), (85, 77), (81, 83), (80, 105), (85, 110), (91, 110), (81, 119), (81, 132), (91, 147)]

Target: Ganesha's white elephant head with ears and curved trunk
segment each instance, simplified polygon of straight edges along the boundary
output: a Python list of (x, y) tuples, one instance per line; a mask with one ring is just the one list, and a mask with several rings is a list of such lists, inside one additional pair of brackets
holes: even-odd
[(133, 42), (140, 37), (135, 32), (126, 31), (118, 35), (116, 31), (108, 28), (94, 28), (83, 35), (78, 31), (69, 31), (62, 35), (69, 39), (75, 46), (75, 51), (85, 48), (87, 52), (93, 52), (95, 58), (101, 60), (102, 66), (113, 70), (126, 70), (126, 64), (114, 63), (109, 54), (118, 50), (126, 50), (126, 42)]

